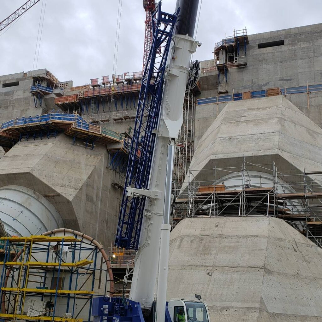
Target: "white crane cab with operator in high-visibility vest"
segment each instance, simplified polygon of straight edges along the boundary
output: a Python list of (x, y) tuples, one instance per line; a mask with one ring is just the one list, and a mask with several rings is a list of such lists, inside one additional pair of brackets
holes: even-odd
[(209, 322), (207, 304), (196, 295), (198, 301), (172, 299), (168, 311), (172, 322)]

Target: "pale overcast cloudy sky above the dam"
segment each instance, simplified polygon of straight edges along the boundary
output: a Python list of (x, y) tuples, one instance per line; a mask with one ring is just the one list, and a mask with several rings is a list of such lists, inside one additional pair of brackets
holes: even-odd
[[(0, 21), (25, 0), (0, 0)], [(199, 0), (201, 2), (201, 0)], [(33, 69), (42, 5), (45, 19), (37, 69), (74, 85), (113, 72), (119, 0), (41, 0), (0, 33), (0, 75)], [(173, 13), (175, 0), (163, 0)], [(248, 34), (322, 22), (321, 0), (202, 0), (194, 59), (213, 58), (214, 43), (246, 26)], [(141, 71), (143, 0), (123, 0), (116, 74)], [(35, 68), (34, 68), (35, 69)]]

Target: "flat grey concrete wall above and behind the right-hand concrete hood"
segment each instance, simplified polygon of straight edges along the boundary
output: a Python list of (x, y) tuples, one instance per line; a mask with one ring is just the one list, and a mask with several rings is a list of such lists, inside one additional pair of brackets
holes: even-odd
[[(294, 87), (322, 83), (322, 24), (249, 35), (247, 67), (229, 68), (228, 90), (245, 92), (272, 87)], [(284, 45), (258, 48), (258, 44), (284, 40)], [(211, 61), (202, 62), (209, 67)], [(217, 71), (204, 71), (199, 98), (217, 96)], [(322, 127), (322, 92), (291, 94), (287, 98)], [(226, 103), (197, 105), (195, 142), (204, 134)], [(197, 144), (195, 144), (196, 146)]]

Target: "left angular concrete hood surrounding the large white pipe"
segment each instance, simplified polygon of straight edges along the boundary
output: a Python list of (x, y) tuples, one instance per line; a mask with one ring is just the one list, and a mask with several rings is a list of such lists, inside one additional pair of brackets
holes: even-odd
[(116, 231), (120, 190), (111, 183), (103, 145), (85, 149), (72, 138), (18, 142), (0, 160), (0, 186), (19, 185), (43, 195), (62, 216), (64, 227), (80, 230), (109, 246)]

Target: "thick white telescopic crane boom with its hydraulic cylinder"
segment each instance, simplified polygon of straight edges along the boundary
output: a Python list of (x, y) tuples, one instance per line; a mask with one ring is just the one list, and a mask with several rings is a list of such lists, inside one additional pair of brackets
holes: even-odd
[[(192, 9), (198, 6), (198, 0), (189, 3), (180, 0), (179, 3), (181, 10), (191, 9), (185, 10), (181, 20), (189, 19), (194, 24), (196, 12)], [(182, 106), (191, 55), (199, 44), (189, 35), (193, 34), (192, 28), (188, 32), (182, 24), (177, 24), (176, 28), (180, 34), (173, 35), (171, 41), (148, 186), (150, 192), (159, 191), (160, 197), (150, 196), (146, 202), (130, 292), (130, 299), (139, 302), (146, 314), (153, 311), (153, 303), (156, 303), (157, 321), (164, 321), (165, 314), (175, 141), (183, 123)]]

